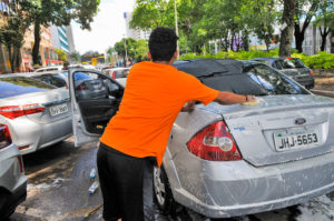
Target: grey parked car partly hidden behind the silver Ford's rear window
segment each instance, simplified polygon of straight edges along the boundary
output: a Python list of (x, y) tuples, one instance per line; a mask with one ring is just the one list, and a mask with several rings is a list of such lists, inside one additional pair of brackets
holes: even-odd
[(282, 71), (306, 89), (314, 88), (314, 71), (307, 68), (298, 58), (256, 58), (252, 61), (263, 62)]

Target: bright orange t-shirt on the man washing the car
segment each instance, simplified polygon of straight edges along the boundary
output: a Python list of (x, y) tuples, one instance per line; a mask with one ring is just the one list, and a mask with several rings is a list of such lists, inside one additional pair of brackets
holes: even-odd
[(173, 66), (137, 63), (128, 74), (119, 110), (100, 141), (131, 157), (156, 157), (160, 165), (183, 106), (193, 100), (208, 104), (217, 97), (217, 90)]

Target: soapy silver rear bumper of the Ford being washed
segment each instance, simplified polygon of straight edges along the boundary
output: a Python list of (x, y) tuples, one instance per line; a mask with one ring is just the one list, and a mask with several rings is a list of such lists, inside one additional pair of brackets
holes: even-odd
[(263, 168), (245, 161), (202, 167), (197, 178), (189, 167), (178, 188), (170, 187), (177, 202), (209, 218), (285, 208), (334, 190), (334, 153)]

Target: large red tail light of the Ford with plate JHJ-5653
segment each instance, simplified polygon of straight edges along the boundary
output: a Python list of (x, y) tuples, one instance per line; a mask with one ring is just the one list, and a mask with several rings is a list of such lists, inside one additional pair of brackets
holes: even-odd
[(237, 145), (224, 121), (218, 121), (199, 131), (187, 143), (188, 150), (204, 160), (242, 160)]

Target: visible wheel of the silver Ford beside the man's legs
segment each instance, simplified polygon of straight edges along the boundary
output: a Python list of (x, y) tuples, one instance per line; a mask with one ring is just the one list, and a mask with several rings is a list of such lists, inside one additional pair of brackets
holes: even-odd
[(155, 202), (163, 213), (168, 214), (175, 208), (175, 201), (164, 167), (154, 169), (154, 194)]

